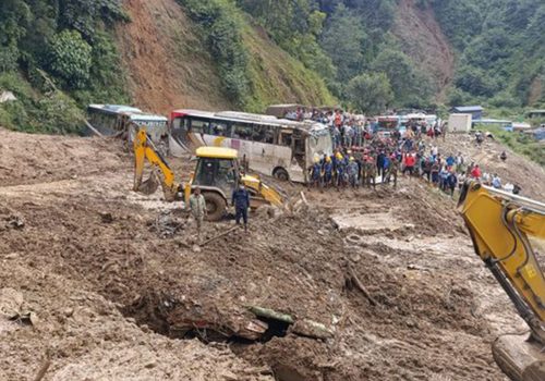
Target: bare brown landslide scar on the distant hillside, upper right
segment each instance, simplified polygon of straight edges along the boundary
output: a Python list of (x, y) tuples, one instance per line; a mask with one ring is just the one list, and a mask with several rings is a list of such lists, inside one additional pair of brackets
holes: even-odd
[(401, 40), (401, 48), (416, 65), (432, 74), (439, 100), (444, 99), (445, 90), (453, 77), (455, 56), (433, 9), (421, 9), (415, 0), (401, 0), (393, 34)]

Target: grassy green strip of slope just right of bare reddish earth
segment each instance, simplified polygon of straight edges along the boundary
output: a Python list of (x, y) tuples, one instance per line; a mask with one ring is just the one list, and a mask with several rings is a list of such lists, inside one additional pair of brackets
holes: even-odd
[(311, 69), (261, 36), (237, 4), (229, 0), (178, 0), (206, 36), (226, 96), (247, 111), (271, 102), (327, 105), (334, 98)]

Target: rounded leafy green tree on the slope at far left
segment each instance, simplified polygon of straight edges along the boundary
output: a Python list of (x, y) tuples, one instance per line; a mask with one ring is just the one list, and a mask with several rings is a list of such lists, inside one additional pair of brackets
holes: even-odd
[(63, 30), (51, 42), (51, 71), (70, 88), (82, 88), (89, 79), (92, 51), (77, 30)]

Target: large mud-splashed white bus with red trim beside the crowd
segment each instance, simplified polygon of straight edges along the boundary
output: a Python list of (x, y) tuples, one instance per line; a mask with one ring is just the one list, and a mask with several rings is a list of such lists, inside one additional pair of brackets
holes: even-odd
[(234, 148), (252, 170), (303, 183), (315, 157), (332, 155), (324, 124), (233, 111), (173, 111), (170, 152), (182, 156), (202, 146)]

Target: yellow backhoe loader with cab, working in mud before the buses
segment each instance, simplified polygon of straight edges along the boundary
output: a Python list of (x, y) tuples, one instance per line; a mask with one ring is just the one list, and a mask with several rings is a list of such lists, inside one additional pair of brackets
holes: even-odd
[[(230, 205), (232, 192), (239, 184), (247, 188), (251, 195), (251, 208), (257, 208), (264, 204), (283, 207), (284, 197), (278, 190), (264, 184), (258, 177), (245, 175), (240, 171), (238, 152), (234, 149), (198, 148), (194, 174), (187, 184), (179, 184), (175, 182), (174, 172), (158, 152), (145, 128), (137, 132), (133, 145), (135, 160), (133, 189), (135, 192), (154, 193), (158, 187), (157, 177), (159, 177), (165, 199), (174, 201), (183, 198), (187, 206), (192, 188), (198, 186), (205, 197), (207, 219), (210, 221), (221, 219)], [(143, 182), (146, 160), (152, 164), (152, 174)]]

